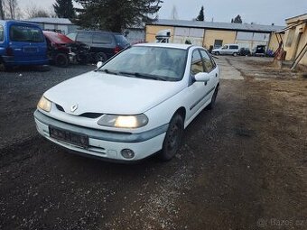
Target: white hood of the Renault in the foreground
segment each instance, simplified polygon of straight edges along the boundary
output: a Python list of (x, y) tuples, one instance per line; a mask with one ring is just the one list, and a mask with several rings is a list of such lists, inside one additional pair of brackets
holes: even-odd
[[(88, 72), (70, 78), (45, 92), (44, 97), (62, 106), (66, 113), (137, 115), (179, 93), (183, 81), (129, 78)], [(71, 112), (71, 106), (77, 109)]]

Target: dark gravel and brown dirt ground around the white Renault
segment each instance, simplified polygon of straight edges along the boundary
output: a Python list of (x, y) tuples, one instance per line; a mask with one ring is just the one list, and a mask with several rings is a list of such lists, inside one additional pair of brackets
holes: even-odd
[(35, 130), (42, 93), (95, 66), (0, 72), (0, 229), (306, 229), (307, 81), (272, 61), (219, 56), (217, 105), (179, 154), (131, 165)]

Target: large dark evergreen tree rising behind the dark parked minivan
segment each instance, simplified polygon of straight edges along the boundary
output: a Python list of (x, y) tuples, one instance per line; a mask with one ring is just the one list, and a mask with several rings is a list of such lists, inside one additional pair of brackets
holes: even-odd
[(152, 23), (162, 0), (75, 0), (83, 6), (74, 23), (88, 29), (123, 32), (129, 26)]

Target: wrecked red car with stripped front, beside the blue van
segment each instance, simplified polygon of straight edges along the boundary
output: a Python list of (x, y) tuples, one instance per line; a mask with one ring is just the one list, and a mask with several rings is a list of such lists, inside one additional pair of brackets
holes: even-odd
[(66, 67), (70, 61), (88, 62), (88, 47), (80, 42), (72, 41), (59, 32), (43, 31), (48, 44), (48, 57), (60, 67)]

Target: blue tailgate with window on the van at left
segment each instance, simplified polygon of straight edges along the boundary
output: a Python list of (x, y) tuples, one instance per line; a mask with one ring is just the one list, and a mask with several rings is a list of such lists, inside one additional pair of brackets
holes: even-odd
[(9, 26), (9, 40), (14, 62), (31, 64), (46, 60), (47, 44), (38, 26), (13, 23)]

